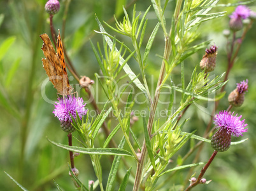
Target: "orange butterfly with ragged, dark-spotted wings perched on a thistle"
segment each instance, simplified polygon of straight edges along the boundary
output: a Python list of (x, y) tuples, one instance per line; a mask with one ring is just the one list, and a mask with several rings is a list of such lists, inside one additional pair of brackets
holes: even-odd
[(59, 95), (70, 95), (73, 88), (70, 86), (68, 80), (60, 30), (57, 37), (57, 53), (46, 33), (41, 34), (40, 37), (43, 40), (43, 47), (41, 49), (45, 55), (45, 58), (42, 58), (43, 68), (45, 69), (49, 80), (52, 82), (54, 88), (57, 89)]

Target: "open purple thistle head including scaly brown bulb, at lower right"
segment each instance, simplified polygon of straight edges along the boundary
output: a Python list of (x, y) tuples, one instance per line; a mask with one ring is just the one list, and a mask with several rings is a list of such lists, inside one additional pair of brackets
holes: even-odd
[(240, 121), (242, 115), (237, 117), (238, 114), (233, 116), (227, 111), (221, 111), (214, 117), (214, 124), (217, 125), (218, 131), (211, 137), (211, 147), (215, 150), (223, 152), (229, 149), (231, 145), (231, 136), (243, 136), (245, 129), (245, 119)]

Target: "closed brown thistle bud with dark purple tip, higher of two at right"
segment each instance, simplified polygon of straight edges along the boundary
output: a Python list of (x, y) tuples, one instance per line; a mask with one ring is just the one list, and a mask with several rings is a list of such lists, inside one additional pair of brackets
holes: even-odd
[(202, 70), (205, 69), (205, 72), (211, 72), (215, 69), (217, 49), (215, 45), (212, 45), (210, 49), (206, 48), (205, 55), (200, 62), (200, 67)]

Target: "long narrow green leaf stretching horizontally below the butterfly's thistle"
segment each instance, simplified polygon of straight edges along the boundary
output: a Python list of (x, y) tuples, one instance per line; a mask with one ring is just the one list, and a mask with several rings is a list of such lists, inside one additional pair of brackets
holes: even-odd
[(90, 154), (90, 155), (123, 155), (132, 157), (132, 154), (127, 150), (120, 149), (120, 148), (83, 148), (83, 147), (75, 147), (69, 145), (63, 145), (61, 143), (52, 142), (47, 138), (47, 140), (56, 145), (57, 147), (64, 148), (66, 150), (70, 150), (73, 152), (79, 152), (82, 154)]

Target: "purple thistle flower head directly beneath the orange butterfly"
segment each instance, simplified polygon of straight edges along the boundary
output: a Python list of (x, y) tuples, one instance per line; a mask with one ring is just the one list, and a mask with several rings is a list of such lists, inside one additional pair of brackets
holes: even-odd
[(69, 113), (76, 119), (76, 112), (78, 113), (80, 119), (82, 119), (83, 115), (87, 114), (87, 109), (85, 109), (85, 104), (83, 104), (83, 98), (76, 98), (75, 96), (67, 96), (64, 98), (58, 98), (59, 102), (55, 102), (55, 109), (53, 110), (53, 114), (60, 121), (60, 126), (66, 132), (73, 132), (75, 128), (73, 128), (71, 122), (71, 116)]

